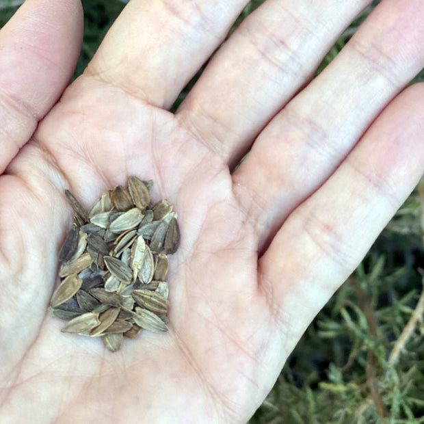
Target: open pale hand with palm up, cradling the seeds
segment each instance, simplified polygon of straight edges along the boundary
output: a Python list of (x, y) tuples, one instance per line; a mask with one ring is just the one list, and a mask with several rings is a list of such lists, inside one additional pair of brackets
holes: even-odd
[[(424, 64), (420, 0), (382, 1), (313, 81), (371, 2), (268, 0), (167, 111), (245, 3), (132, 0), (66, 90), (79, 1), (27, 0), (2, 29), (2, 422), (248, 420), (419, 180), (424, 87), (397, 94)], [(170, 331), (111, 354), (47, 306), (64, 189), (88, 208), (131, 174), (175, 205), (181, 247)]]

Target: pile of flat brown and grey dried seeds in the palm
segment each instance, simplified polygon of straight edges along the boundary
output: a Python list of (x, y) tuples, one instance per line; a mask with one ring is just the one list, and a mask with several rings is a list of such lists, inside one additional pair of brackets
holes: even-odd
[(167, 254), (180, 240), (168, 200), (150, 200), (152, 181), (103, 191), (86, 212), (70, 191), (74, 226), (59, 252), (61, 283), (51, 312), (68, 320), (62, 332), (101, 337), (111, 352), (141, 329), (168, 330)]

